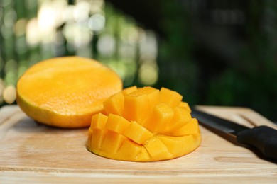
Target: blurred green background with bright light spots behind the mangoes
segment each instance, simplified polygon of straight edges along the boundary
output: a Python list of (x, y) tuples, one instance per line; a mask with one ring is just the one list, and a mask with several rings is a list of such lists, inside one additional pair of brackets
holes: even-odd
[(50, 57), (112, 67), (127, 86), (165, 86), (190, 105), (244, 106), (277, 122), (277, 3), (0, 0), (0, 104)]

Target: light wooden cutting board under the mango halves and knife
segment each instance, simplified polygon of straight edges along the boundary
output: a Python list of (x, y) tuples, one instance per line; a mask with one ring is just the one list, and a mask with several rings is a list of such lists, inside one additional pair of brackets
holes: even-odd
[[(248, 108), (199, 106), (254, 127), (276, 127)], [(168, 161), (115, 161), (87, 151), (87, 129), (40, 125), (16, 105), (0, 109), (0, 183), (276, 183), (277, 164), (200, 127), (202, 144)]]

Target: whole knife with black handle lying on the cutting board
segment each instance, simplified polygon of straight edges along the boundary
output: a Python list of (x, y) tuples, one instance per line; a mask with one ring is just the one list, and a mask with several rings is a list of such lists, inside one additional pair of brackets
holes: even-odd
[(201, 125), (235, 137), (240, 144), (259, 149), (266, 159), (277, 160), (277, 130), (265, 125), (249, 128), (192, 108), (192, 117)]

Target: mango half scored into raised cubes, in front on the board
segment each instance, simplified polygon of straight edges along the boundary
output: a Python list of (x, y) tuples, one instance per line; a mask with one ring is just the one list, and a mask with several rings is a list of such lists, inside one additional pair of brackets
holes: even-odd
[(132, 86), (104, 103), (92, 116), (87, 149), (122, 161), (174, 159), (201, 143), (198, 122), (183, 96), (168, 88)]

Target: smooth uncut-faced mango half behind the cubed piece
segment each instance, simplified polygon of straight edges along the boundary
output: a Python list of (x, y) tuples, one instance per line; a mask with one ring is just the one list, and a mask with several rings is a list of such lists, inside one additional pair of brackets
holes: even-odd
[(24, 113), (46, 125), (89, 127), (92, 115), (102, 112), (103, 102), (121, 89), (119, 76), (100, 62), (56, 57), (21, 76), (16, 100)]

